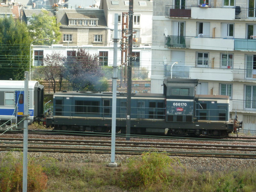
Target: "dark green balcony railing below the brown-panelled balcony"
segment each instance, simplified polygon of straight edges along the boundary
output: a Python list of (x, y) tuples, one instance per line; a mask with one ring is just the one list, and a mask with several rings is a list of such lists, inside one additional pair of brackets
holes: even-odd
[(190, 47), (190, 38), (186, 36), (167, 36), (165, 37), (164, 44), (167, 47)]

